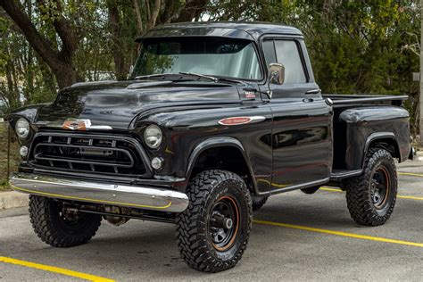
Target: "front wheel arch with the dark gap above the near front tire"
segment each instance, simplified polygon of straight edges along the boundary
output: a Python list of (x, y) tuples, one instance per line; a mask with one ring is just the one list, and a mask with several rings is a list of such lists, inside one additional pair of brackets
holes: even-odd
[(213, 137), (196, 145), (189, 156), (186, 178), (191, 180), (203, 170), (217, 169), (236, 173), (245, 180), (250, 192), (257, 194), (251, 164), (244, 146), (236, 138)]

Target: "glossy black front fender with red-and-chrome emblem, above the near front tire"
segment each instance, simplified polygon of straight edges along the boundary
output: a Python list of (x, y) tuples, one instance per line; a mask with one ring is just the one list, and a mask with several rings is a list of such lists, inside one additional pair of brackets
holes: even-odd
[[(270, 190), (272, 147), (269, 142), (272, 116), (268, 105), (227, 104), (220, 107), (154, 112), (137, 121), (138, 135), (149, 124), (158, 125), (163, 132), (163, 143), (157, 150), (147, 150), (150, 159), (161, 157), (162, 170), (155, 177), (172, 176), (186, 178), (193, 172), (197, 157), (211, 147), (224, 146), (239, 151), (239, 158), (247, 163), (248, 170), (256, 179), (254, 186), (261, 192)], [(254, 122), (228, 126), (220, 120), (230, 117), (264, 117)], [(253, 172), (252, 172), (253, 171)], [(184, 189), (185, 187), (180, 187)]]

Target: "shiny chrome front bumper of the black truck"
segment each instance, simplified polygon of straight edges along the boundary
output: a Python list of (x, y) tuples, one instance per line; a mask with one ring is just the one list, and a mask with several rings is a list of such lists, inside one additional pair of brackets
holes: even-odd
[(12, 173), (9, 182), (14, 190), (31, 195), (153, 211), (181, 212), (189, 203), (184, 193), (156, 187), (113, 185), (24, 172)]

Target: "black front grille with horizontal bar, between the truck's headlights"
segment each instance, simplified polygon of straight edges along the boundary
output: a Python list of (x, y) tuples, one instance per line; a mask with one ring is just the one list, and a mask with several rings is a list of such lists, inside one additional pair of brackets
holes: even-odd
[(41, 134), (34, 138), (29, 163), (48, 170), (100, 174), (145, 174), (145, 165), (132, 138)]

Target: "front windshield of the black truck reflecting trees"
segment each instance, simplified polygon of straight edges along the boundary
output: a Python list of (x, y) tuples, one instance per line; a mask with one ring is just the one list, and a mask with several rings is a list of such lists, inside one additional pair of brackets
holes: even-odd
[(261, 79), (260, 64), (253, 43), (224, 37), (146, 39), (142, 43), (131, 79), (179, 72)]

